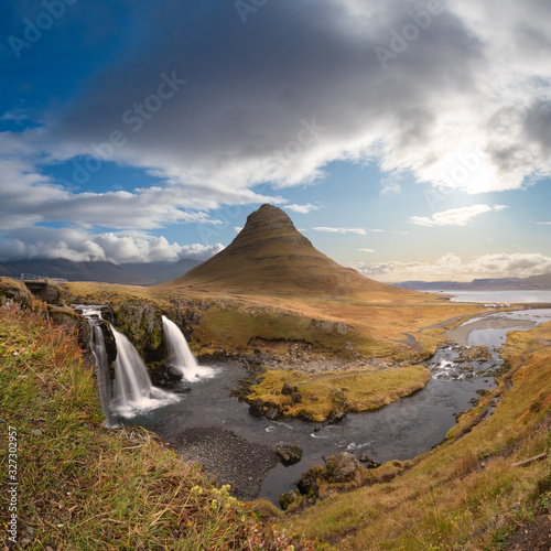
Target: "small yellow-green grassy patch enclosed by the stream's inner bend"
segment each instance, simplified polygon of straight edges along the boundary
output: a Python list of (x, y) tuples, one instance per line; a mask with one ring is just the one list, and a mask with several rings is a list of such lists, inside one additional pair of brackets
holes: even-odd
[[(381, 408), (420, 390), (429, 379), (430, 374), (423, 366), (322, 376), (278, 369), (262, 375), (260, 382), (251, 387), (247, 401), (272, 402), (284, 417), (322, 422), (337, 410), (358, 412)], [(285, 382), (296, 387), (301, 402), (281, 393)]]

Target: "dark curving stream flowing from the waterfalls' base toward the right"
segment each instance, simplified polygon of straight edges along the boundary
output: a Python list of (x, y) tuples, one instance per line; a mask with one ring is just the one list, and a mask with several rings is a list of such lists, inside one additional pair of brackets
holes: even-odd
[[(302, 473), (314, 465), (323, 465), (324, 457), (338, 452), (350, 452), (357, 458), (367, 454), (369, 458), (385, 463), (411, 460), (441, 443), (456, 423), (456, 415), (472, 408), (482, 392), (496, 388), (494, 375), (503, 363), (497, 348), (507, 333), (529, 329), (551, 320), (551, 309), (499, 312), (477, 320), (489, 316), (529, 321), (533, 325), (472, 331), (468, 345), (488, 346), (490, 360), (457, 364), (457, 347), (439, 349), (425, 363), (431, 380), (422, 390), (379, 410), (348, 413), (337, 424), (252, 418), (247, 403), (230, 397), (230, 391), (247, 375), (235, 361), (205, 365), (212, 368), (209, 378), (182, 382), (182, 386), (192, 388), (188, 395), (131, 418), (119, 417), (119, 421), (126, 425), (142, 425), (171, 443), (175, 443), (185, 429), (216, 426), (273, 450), (279, 444), (301, 446), (303, 456), (299, 463), (291, 466), (278, 464), (263, 480), (258, 497), (279, 504), (280, 495), (294, 489), (294, 482)], [(318, 430), (314, 431), (315, 428)]]

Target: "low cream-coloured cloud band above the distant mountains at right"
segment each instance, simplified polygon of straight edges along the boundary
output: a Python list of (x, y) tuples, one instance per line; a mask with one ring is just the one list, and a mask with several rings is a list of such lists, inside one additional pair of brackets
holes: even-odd
[(464, 261), (450, 252), (435, 262), (371, 262), (353, 263), (352, 268), (368, 278), (381, 281), (472, 281), (476, 278), (530, 278), (551, 272), (551, 257), (537, 252), (495, 253)]

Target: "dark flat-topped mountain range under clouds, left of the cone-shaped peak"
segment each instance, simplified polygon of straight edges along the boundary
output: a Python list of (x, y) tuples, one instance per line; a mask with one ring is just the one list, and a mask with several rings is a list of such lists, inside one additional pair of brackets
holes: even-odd
[(0, 277), (20, 278), (33, 273), (68, 281), (99, 281), (123, 285), (154, 285), (181, 276), (199, 264), (198, 260), (177, 262), (142, 262), (115, 264), (112, 262), (73, 262), (66, 258), (14, 260), (0, 263)]

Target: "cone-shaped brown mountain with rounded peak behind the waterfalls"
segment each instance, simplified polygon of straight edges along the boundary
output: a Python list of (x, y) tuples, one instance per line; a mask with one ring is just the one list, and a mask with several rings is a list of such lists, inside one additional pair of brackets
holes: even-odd
[(386, 300), (411, 294), (336, 263), (272, 205), (250, 214), (244, 229), (223, 251), (162, 287), (299, 296), (382, 293)]

